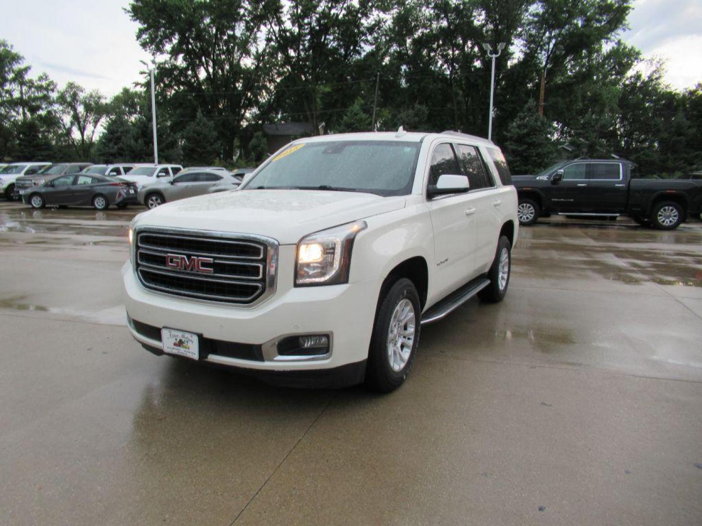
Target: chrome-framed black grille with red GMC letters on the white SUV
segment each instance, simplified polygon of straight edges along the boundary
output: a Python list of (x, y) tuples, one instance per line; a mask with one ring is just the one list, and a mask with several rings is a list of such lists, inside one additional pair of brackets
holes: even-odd
[(277, 247), (207, 232), (139, 230), (134, 267), (147, 289), (215, 302), (251, 304), (274, 283)]

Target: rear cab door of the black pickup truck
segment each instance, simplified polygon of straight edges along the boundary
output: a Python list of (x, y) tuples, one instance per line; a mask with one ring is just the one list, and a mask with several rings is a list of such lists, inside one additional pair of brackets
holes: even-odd
[(597, 161), (588, 164), (587, 203), (593, 213), (621, 212), (628, 189), (621, 163)]

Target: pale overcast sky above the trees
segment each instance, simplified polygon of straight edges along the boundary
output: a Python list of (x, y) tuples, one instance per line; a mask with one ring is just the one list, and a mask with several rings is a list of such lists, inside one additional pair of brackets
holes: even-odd
[[(73, 80), (105, 95), (140, 79), (148, 55), (137, 26), (118, 0), (15, 0), (5, 3), (0, 38), (63, 86)], [(666, 81), (677, 89), (702, 81), (702, 1), (635, 0), (623, 39), (646, 58), (666, 60)]]

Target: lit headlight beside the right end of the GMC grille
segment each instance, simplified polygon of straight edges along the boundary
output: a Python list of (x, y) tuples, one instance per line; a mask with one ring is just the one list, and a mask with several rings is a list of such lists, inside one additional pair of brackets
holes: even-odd
[(366, 229), (365, 221), (356, 221), (315, 232), (298, 243), (295, 285), (336, 285), (347, 283), (351, 250), (356, 234)]

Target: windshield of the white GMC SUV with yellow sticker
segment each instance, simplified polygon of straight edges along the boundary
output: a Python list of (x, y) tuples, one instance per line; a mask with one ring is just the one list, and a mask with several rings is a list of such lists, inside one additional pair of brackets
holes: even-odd
[(322, 189), (401, 196), (412, 189), (418, 142), (329, 141), (294, 144), (262, 169), (247, 190)]

